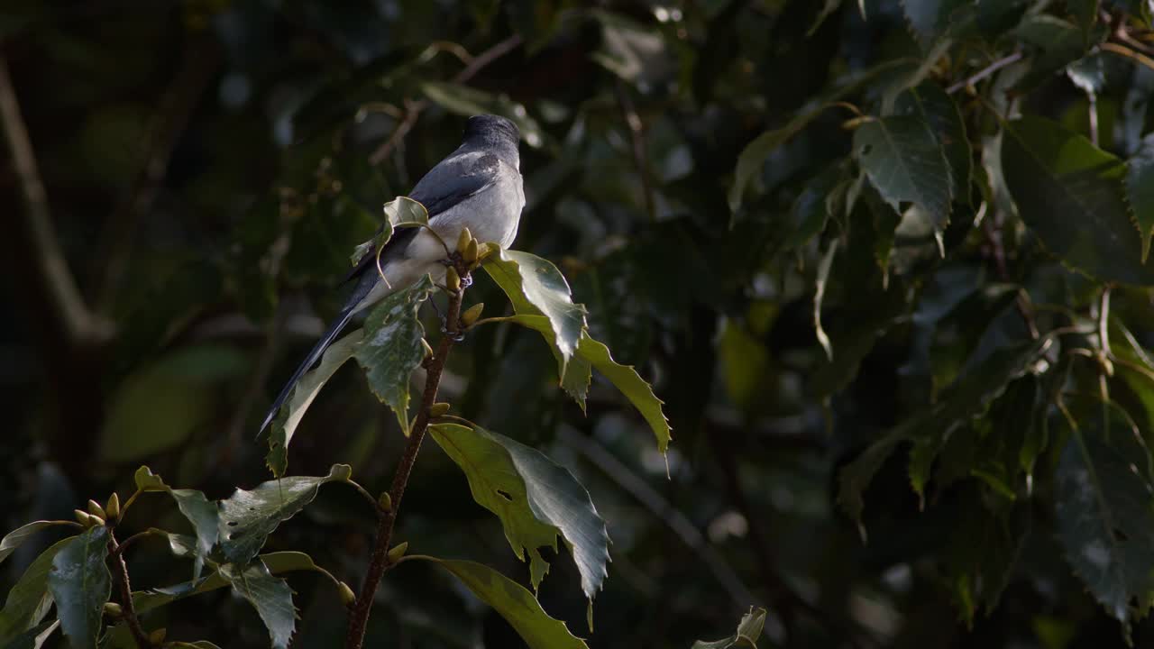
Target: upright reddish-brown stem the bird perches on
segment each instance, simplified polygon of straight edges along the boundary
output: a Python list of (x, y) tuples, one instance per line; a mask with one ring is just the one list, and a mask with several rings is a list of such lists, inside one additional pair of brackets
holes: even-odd
[[(469, 267), (460, 261), (459, 255), (454, 255), (457, 274), (462, 279), (469, 277)], [(467, 283), (467, 282), (466, 282)], [(353, 604), (352, 613), (349, 617), (349, 633), (345, 636), (346, 649), (361, 649), (365, 642), (365, 628), (368, 625), (369, 613), (373, 611), (373, 598), (376, 595), (376, 587), (381, 583), (381, 576), (395, 564), (389, 561), (389, 545), (392, 542), (392, 528), (397, 522), (397, 512), (400, 509), (400, 500), (405, 495), (405, 487), (409, 485), (409, 476), (413, 471), (417, 462), (417, 454), (420, 452), (421, 441), (429, 426), (429, 409), (436, 403), (437, 388), (441, 385), (441, 374), (444, 372), (444, 364), (449, 358), (449, 351), (462, 331), (460, 304), (465, 290), (459, 288), (449, 292), (449, 309), (445, 318), (445, 333), (437, 343), (437, 349), (426, 360), (425, 391), (421, 395), (420, 411), (413, 423), (413, 430), (409, 437), (409, 443), (397, 472), (392, 476), (392, 486), (389, 487), (388, 510), (382, 512), (376, 527), (376, 544), (369, 559), (368, 572), (365, 574), (365, 583), (361, 584), (360, 595)]]

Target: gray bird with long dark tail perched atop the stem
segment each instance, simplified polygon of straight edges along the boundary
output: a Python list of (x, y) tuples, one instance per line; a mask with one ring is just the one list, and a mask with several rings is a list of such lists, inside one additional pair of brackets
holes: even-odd
[[(525, 192), (520, 178), (520, 137), (517, 125), (503, 117), (474, 115), (465, 124), (460, 147), (436, 164), (413, 187), (409, 197), (419, 201), (429, 214), (429, 226), (456, 248), (463, 227), (469, 227), (478, 241), (493, 241), (509, 247), (517, 237)], [(373, 306), (389, 293), (404, 289), (426, 273), (444, 282), (444, 247), (424, 227), (406, 227), (394, 232), (381, 252), (381, 268), (388, 283), (376, 270), (376, 251), (370, 249), (350, 273), (346, 282), (355, 282), (340, 313), (321, 336), (305, 360), (269, 408), (261, 432), (268, 427), (301, 375), (337, 338), (358, 312)]]

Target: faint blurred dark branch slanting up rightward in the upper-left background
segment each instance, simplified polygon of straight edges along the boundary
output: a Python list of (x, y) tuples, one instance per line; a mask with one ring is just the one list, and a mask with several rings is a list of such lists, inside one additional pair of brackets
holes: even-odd
[(188, 127), (193, 112), (216, 74), (219, 53), (205, 38), (186, 54), (183, 67), (165, 92), (149, 128), (143, 164), (132, 189), (108, 217), (97, 246), (92, 273), (99, 278), (93, 294), (99, 313), (112, 309), (128, 268), (136, 225), (160, 193), (172, 151)]

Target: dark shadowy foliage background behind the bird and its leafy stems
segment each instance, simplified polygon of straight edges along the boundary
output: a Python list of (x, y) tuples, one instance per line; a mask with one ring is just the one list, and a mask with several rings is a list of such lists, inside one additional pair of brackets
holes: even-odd
[[(752, 604), (770, 647), (1103, 647), (1131, 625), (1154, 642), (1148, 10), (7, 0), (0, 52), (45, 196), (27, 200), (8, 155), (0, 528), (130, 493), (142, 463), (210, 498), (267, 479), (256, 424), (335, 313), (352, 247), (464, 115), (497, 112), (524, 135), (516, 247), (557, 263), (674, 430), (666, 478), (628, 403), (594, 383), (583, 413), (531, 331), (482, 328), (452, 358), (459, 411), (569, 467), (608, 522), (591, 647), (689, 647)], [(1002, 121), (1018, 113), (1052, 121)], [(1079, 166), (1087, 139), (1132, 159), (1126, 189), (1108, 161)], [(470, 299), (503, 304), (484, 279)], [(346, 367), (290, 457), (352, 464), (376, 493), (400, 446)], [(1079, 483), (1087, 467), (1109, 484)], [(411, 549), (527, 583), (432, 445), (405, 502)], [(125, 527), (162, 523), (185, 529), (142, 500)], [(268, 547), (355, 584), (372, 530), (355, 494), (324, 490)], [(2, 566), (0, 591), (50, 540)], [(187, 579), (148, 544), (129, 566), (136, 588)], [(560, 558), (540, 600), (585, 635), (577, 580)], [(293, 646), (339, 646), (331, 585), (290, 582)], [(369, 646), (519, 642), (421, 566), (379, 598)], [(147, 626), (268, 642), (223, 590)]]

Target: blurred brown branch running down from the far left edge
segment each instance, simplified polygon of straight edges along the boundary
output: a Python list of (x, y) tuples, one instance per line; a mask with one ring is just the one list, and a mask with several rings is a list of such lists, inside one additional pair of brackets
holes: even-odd
[(20, 244), (32, 251), (33, 276), (39, 290), (48, 298), (54, 319), (76, 345), (98, 343), (108, 337), (111, 327), (95, 316), (81, 298), (76, 282), (68, 269), (65, 253), (60, 248), (55, 227), (48, 210), (48, 196), (37, 169), (32, 142), (20, 112), (20, 103), (8, 74), (8, 64), (0, 55), (0, 130), (3, 132), (8, 156), (12, 158), (20, 181), (20, 194), (24, 203), (23, 227), (27, 240)]

